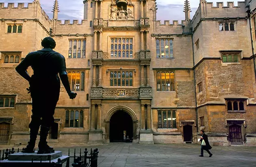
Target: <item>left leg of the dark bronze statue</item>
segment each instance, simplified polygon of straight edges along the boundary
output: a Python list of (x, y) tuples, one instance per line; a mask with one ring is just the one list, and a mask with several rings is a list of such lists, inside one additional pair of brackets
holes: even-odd
[(39, 110), (39, 104), (37, 104), (37, 100), (33, 100), (32, 104), (32, 116), (31, 116), (31, 122), (29, 124), (30, 128), (30, 140), (28, 141), (28, 145), (26, 148), (22, 149), (22, 152), (24, 153), (34, 153), (35, 148), (35, 142), (37, 140), (37, 134), (39, 127), (41, 125), (41, 116), (40, 116), (40, 110)]

